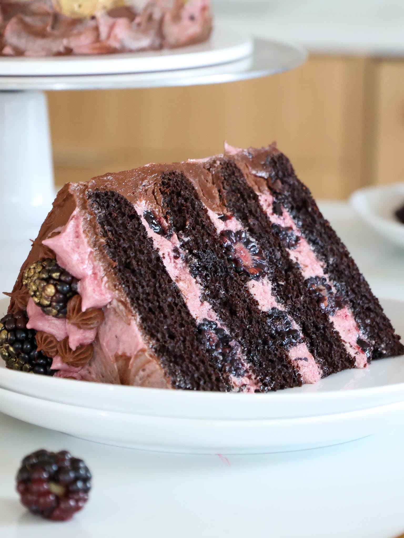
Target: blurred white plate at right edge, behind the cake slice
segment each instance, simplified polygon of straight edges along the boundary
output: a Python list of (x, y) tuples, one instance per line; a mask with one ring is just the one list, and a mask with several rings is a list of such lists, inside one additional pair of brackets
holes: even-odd
[(350, 202), (375, 232), (391, 243), (404, 246), (404, 224), (394, 216), (404, 204), (404, 183), (359, 189), (352, 194)]

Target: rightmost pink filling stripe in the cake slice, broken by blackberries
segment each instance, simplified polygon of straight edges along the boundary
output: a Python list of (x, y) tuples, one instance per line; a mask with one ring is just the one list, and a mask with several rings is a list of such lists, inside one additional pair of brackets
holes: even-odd
[[(282, 216), (278, 216), (273, 211), (273, 201), (274, 198), (271, 194), (261, 194), (257, 193), (260, 203), (266, 214), (268, 215), (271, 222), (291, 228), (295, 235), (299, 237), (299, 242), (295, 249), (288, 249), (289, 256), (292, 260), (297, 261), (301, 267), (303, 277), (305, 279), (311, 277), (325, 277), (328, 281), (328, 284), (335, 291), (335, 287), (332, 282), (329, 280), (328, 275), (324, 274), (324, 268), (321, 262), (317, 259), (315, 252), (311, 249), (311, 246), (307, 240), (302, 236), (301, 231), (297, 228), (294, 220), (289, 215), (288, 211), (282, 207)], [(364, 368), (367, 366), (367, 357), (364, 351), (359, 348), (356, 343), (357, 338), (366, 341), (364, 335), (361, 334), (358, 324), (353, 317), (351, 309), (344, 307), (340, 310), (337, 310), (335, 315), (330, 316), (330, 321), (337, 330), (340, 338), (342, 339), (345, 349), (347, 352), (355, 359), (355, 366), (357, 368)]]

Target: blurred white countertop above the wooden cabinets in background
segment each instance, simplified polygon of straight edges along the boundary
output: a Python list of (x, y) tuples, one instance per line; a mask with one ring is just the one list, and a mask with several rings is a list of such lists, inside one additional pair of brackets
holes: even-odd
[(309, 52), (404, 56), (402, 0), (215, 0), (219, 20)]

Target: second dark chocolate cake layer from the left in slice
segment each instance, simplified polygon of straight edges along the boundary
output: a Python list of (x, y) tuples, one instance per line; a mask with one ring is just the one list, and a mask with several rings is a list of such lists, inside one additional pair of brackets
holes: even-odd
[(162, 175), (159, 187), (162, 207), (191, 273), (204, 288), (208, 301), (241, 344), (253, 372), (258, 373), (261, 391), (301, 385), (298, 372), (287, 358), (288, 345), (270, 336), (270, 316), (250, 296), (234, 268), (229, 265), (223, 244), (198, 199), (196, 190), (182, 173)]

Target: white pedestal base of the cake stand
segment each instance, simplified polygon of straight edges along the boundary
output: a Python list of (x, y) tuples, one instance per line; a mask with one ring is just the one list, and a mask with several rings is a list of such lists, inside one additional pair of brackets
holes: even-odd
[(46, 96), (0, 92), (0, 229), (34, 239), (55, 196)]

